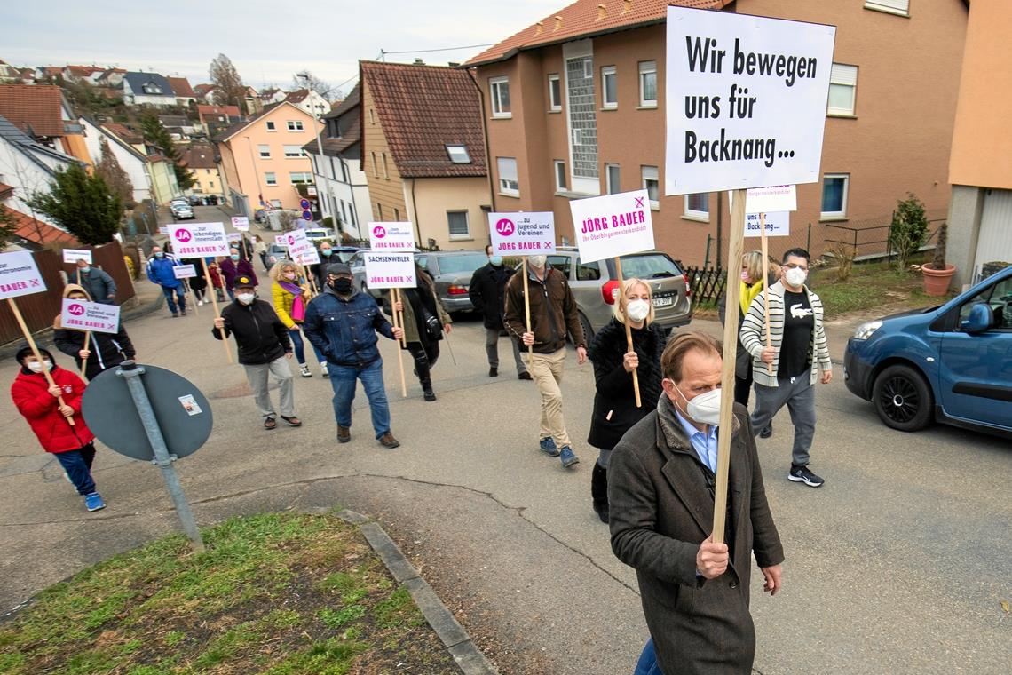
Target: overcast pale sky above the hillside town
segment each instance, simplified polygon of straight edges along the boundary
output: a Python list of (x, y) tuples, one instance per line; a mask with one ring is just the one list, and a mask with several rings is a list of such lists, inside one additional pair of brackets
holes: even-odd
[[(195, 85), (226, 54), (243, 81), (289, 87), (309, 69), (332, 84), (357, 76), (359, 59), (444, 65), (497, 43), (571, 0), (175, 0), (5, 2), (0, 59), (14, 66), (69, 64), (152, 69)], [(45, 9), (43, 9), (45, 8)], [(347, 93), (354, 81), (341, 88)]]

